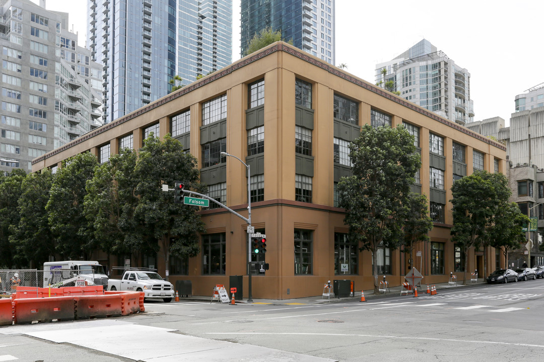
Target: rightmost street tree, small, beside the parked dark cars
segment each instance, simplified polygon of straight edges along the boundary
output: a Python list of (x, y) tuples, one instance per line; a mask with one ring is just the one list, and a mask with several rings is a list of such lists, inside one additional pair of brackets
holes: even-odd
[(516, 202), (506, 205), (500, 212), (495, 225), (490, 232), (490, 245), (502, 249), (504, 265), (508, 265), (508, 252), (522, 248), (526, 242), (525, 233), (522, 231), (525, 225), (529, 225), (529, 218), (522, 213)]

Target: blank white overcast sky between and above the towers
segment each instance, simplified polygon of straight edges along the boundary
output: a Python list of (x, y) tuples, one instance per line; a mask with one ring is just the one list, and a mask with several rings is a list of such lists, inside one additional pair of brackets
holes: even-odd
[[(69, 13), (83, 46), (86, 4), (46, 0), (47, 10)], [(471, 74), (474, 120), (498, 116), (508, 126), (515, 96), (544, 82), (541, 0), (336, 0), (335, 10), (336, 65), (374, 83), (376, 64), (427, 39)], [(233, 61), (240, 58), (239, 22), (240, 0), (233, 0)]]

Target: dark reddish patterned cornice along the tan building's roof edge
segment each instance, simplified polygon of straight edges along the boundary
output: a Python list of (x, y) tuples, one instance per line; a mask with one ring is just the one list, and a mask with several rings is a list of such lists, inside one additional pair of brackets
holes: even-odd
[(437, 122), (440, 122), (440, 123), (443, 123), (443, 124), (445, 124), (447, 126), (450, 126), (453, 129), (456, 129), (456, 130), (458, 130), (460, 132), (463, 132), (464, 134), (467, 134), (467, 135), (469, 135), (471, 137), (477, 138), (480, 141), (483, 141), (483, 142), (485, 142), (487, 144), (490, 144), (490, 145), (492, 145), (494, 147), (497, 147), (497, 148), (502, 149), (504, 151), (506, 150), (506, 147), (504, 145), (502, 145), (500, 143), (497, 143), (497, 142), (494, 142), (490, 138), (484, 137), (484, 136), (482, 136), (480, 134), (477, 134), (477, 133), (475, 133), (475, 132), (473, 132), (471, 130), (463, 128), (459, 124), (456, 124), (456, 123), (451, 122), (451, 121), (449, 121), (447, 119), (444, 119), (444, 118), (436, 115), (436, 113), (429, 112), (428, 110), (426, 110), (424, 108), (421, 108), (421, 107), (419, 107), (419, 106), (417, 106), (417, 105), (415, 105), (413, 103), (410, 103), (409, 101), (406, 101), (403, 98), (396, 97), (396, 96), (394, 96), (393, 93), (387, 92), (387, 91), (385, 91), (384, 89), (382, 89), (380, 87), (376, 87), (376, 86), (374, 86), (372, 84), (361, 81), (360, 79), (357, 79), (357, 78), (353, 77), (353, 75), (351, 75), (349, 73), (345, 73), (341, 69), (339, 69), (339, 68), (337, 68), (335, 66), (331, 66), (327, 62), (321, 61), (321, 60), (319, 60), (317, 58), (313, 58), (313, 56), (311, 56), (310, 54), (308, 54), (306, 52), (302, 52), (298, 48), (294, 48), (292, 46), (287, 45), (287, 43), (278, 42), (278, 43), (275, 43), (275, 45), (273, 45), (273, 46), (270, 46), (268, 48), (264, 48), (259, 52), (253, 53), (251, 56), (248, 56), (247, 58), (243, 58), (243, 59), (239, 60), (236, 63), (232, 63), (230, 66), (223, 68), (221, 71), (214, 72), (214, 73), (210, 74), (208, 77), (197, 80), (197, 81), (191, 83), (190, 85), (188, 85), (186, 87), (183, 87), (183, 88), (181, 88), (181, 89), (179, 89), (179, 90), (177, 90), (177, 91), (175, 91), (173, 93), (168, 94), (168, 96), (160, 98), (157, 101), (154, 101), (153, 103), (151, 103), (151, 104), (149, 104), (149, 105), (147, 105), (145, 107), (141, 107), (137, 111), (134, 111), (133, 113), (130, 113), (127, 116), (121, 117), (121, 118), (119, 118), (117, 120), (114, 120), (114, 122), (105, 124), (105, 125), (101, 126), (100, 128), (97, 128), (94, 131), (88, 132), (87, 134), (75, 139), (74, 141), (72, 141), (70, 143), (67, 143), (62, 147), (54, 149), (50, 153), (47, 153), (47, 154), (45, 154), (43, 156), (35, 158), (32, 161), (32, 164), (43, 161), (46, 158), (49, 158), (49, 157), (54, 156), (54, 155), (56, 155), (58, 153), (61, 153), (64, 150), (69, 149), (69, 148), (71, 148), (71, 147), (73, 147), (73, 146), (75, 146), (75, 145), (77, 145), (79, 143), (85, 142), (89, 138), (95, 137), (97, 135), (100, 135), (102, 132), (106, 132), (107, 130), (112, 129), (115, 126), (120, 125), (121, 123), (128, 122), (129, 120), (131, 120), (131, 119), (133, 119), (135, 117), (141, 116), (144, 113), (149, 112), (149, 111), (157, 108), (158, 106), (161, 106), (161, 105), (163, 105), (165, 103), (168, 103), (169, 101), (171, 101), (173, 99), (176, 99), (178, 97), (182, 97), (182, 96), (184, 96), (185, 94), (187, 94), (189, 92), (192, 92), (192, 91), (197, 90), (198, 88), (200, 88), (202, 86), (207, 85), (208, 83), (211, 83), (211, 82), (213, 82), (213, 81), (215, 81), (215, 80), (217, 80), (219, 78), (225, 77), (225, 75), (231, 74), (232, 72), (236, 71), (239, 68), (242, 68), (242, 67), (244, 67), (244, 66), (246, 66), (246, 65), (248, 65), (248, 64), (250, 64), (252, 62), (255, 62), (255, 61), (257, 61), (257, 60), (259, 60), (261, 58), (264, 58), (267, 55), (270, 55), (272, 53), (279, 52), (279, 51), (286, 52), (286, 53), (288, 53), (290, 55), (296, 56), (296, 58), (299, 58), (299, 59), (302, 59), (302, 60), (304, 60), (304, 61), (306, 61), (308, 63), (311, 63), (314, 66), (322, 68), (325, 71), (336, 75), (337, 77), (343, 78), (343, 79), (345, 79), (345, 80), (347, 80), (347, 81), (349, 81), (349, 82), (351, 82), (353, 84), (356, 84), (356, 85), (358, 85), (358, 86), (360, 86), (362, 88), (365, 88), (366, 90), (368, 90), (370, 92), (374, 92), (376, 94), (379, 94), (382, 97), (390, 99), (390, 100), (392, 100), (392, 101), (394, 101), (394, 102), (396, 102), (396, 103), (398, 103), (400, 105), (403, 105), (403, 106), (405, 106), (407, 108), (410, 108), (413, 111), (421, 113), (422, 115), (424, 115), (426, 117), (432, 118), (432, 119), (436, 120)]

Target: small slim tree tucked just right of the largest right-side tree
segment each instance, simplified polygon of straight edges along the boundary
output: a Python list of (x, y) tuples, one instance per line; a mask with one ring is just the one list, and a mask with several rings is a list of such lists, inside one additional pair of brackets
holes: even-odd
[(429, 240), (428, 233), (432, 230), (432, 219), (429, 217), (428, 201), (425, 195), (411, 193), (407, 205), (408, 212), (403, 227), (403, 247), (413, 265), (413, 248), (415, 244)]

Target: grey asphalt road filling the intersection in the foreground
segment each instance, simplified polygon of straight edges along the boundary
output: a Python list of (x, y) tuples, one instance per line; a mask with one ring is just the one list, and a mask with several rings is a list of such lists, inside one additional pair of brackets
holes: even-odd
[(543, 296), (536, 280), (372, 302), (149, 302), (119, 319), (0, 327), (0, 361), (535, 361)]

